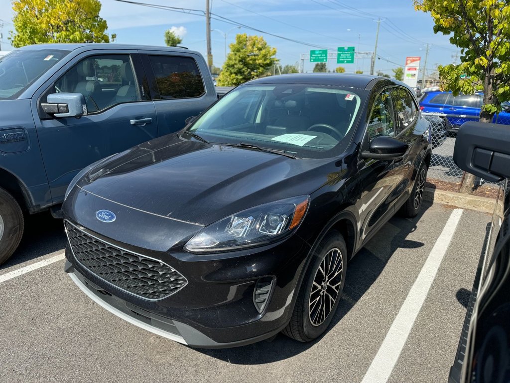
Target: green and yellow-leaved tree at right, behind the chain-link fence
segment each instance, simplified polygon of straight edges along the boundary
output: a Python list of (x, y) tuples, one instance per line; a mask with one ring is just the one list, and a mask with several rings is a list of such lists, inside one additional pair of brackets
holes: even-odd
[[(483, 90), (480, 122), (489, 123), (510, 100), (510, 4), (505, 0), (414, 0), (430, 12), (434, 33), (450, 36), (461, 49), (461, 63), (438, 67), (440, 86), (457, 95)], [(461, 78), (462, 76), (462, 78)], [(471, 193), (475, 177), (466, 174), (461, 191)]]

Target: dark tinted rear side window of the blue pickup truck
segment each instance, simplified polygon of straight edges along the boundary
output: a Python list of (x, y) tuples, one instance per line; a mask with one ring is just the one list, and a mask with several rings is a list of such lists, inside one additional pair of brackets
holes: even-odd
[(199, 97), (205, 92), (200, 71), (191, 57), (149, 55), (149, 61), (156, 78), (151, 87), (161, 99)]

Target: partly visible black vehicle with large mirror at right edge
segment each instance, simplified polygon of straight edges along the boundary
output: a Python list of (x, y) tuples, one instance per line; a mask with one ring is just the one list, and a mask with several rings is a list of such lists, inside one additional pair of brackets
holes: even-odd
[(450, 383), (510, 381), (510, 128), (466, 123), (453, 159), (466, 172), (501, 184), (481, 249)]

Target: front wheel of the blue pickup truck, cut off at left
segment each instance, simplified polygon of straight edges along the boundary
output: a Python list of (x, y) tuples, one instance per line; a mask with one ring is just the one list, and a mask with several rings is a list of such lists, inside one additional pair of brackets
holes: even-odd
[(0, 265), (14, 253), (23, 235), (23, 212), (16, 200), (0, 187)]

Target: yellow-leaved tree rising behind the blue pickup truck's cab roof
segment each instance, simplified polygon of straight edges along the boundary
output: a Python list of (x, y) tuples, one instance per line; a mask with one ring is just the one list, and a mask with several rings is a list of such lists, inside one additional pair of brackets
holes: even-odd
[(110, 42), (98, 0), (14, 0), (12, 46), (47, 42)]

